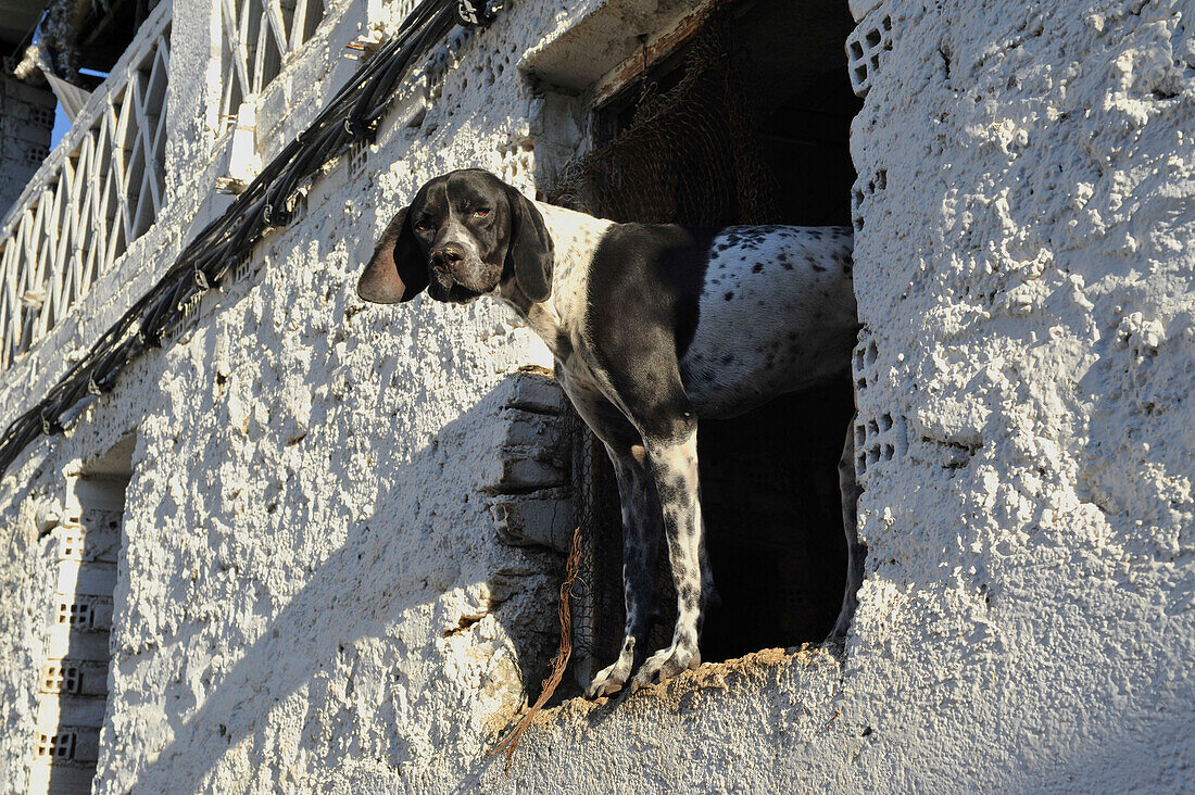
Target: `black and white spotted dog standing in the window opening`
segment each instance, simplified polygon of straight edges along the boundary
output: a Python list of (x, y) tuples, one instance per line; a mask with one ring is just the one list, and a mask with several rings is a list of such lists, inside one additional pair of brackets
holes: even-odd
[[(614, 463), (626, 632), (618, 660), (586, 693), (617, 692), (636, 668), (632, 687), (697, 667), (713, 586), (698, 420), (846, 373), (858, 330), (850, 230), (614, 224), (529, 201), (485, 171), (454, 171), (398, 212), (357, 283), (361, 298), (379, 304), (424, 289), (456, 304), (491, 295), (526, 318)], [(839, 470), (850, 564), (832, 636), (845, 635), (862, 581), (851, 447), (847, 433)], [(648, 658), (661, 538), (678, 618), (672, 644)]]

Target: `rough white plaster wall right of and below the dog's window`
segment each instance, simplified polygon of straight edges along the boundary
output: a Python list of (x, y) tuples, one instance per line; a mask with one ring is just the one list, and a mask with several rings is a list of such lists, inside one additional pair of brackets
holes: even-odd
[(1195, 4), (872, 14), (846, 658), (572, 704), (495, 785), (1190, 787)]

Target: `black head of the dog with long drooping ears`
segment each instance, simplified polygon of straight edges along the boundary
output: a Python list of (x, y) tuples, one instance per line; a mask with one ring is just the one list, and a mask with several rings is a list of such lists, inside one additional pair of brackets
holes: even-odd
[[(375, 304), (468, 304), (500, 288), (532, 301), (552, 292), (552, 238), (535, 206), (488, 171), (470, 169), (423, 185), (382, 232), (357, 282)], [(509, 296), (509, 295), (508, 295)]]

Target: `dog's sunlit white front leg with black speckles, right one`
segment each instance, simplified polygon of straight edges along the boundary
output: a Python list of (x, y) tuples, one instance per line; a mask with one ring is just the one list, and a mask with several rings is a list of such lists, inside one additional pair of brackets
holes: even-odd
[(648, 658), (635, 675), (636, 689), (662, 681), (701, 663), (698, 641), (711, 592), (701, 522), (697, 467), (697, 420), (676, 423), (680, 434), (644, 435), (648, 467), (656, 482), (668, 558), (676, 586), (676, 628), (672, 644)]

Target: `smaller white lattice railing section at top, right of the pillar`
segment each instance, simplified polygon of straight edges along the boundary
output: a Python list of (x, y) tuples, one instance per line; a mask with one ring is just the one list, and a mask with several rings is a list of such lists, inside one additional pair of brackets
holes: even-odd
[(221, 0), (223, 45), (221, 130), (237, 121), (245, 98), (278, 77), (287, 55), (312, 37), (324, 18), (323, 0)]

